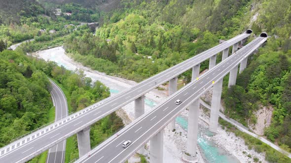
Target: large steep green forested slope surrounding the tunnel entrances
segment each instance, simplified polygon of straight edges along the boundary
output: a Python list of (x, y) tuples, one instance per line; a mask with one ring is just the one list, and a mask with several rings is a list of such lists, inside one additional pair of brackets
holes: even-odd
[[(218, 39), (247, 28), (256, 35), (266, 31), (271, 37), (265, 48), (250, 57), (238, 84), (224, 89), (225, 113), (247, 125), (256, 122), (260, 105), (272, 106), (265, 136), (290, 148), (290, 6), (291, 0), (121, 0), (119, 8), (104, 14), (95, 36), (76, 31), (64, 46), (87, 66), (142, 81), (217, 45)], [(205, 61), (201, 70), (207, 66)], [(182, 76), (190, 81), (190, 72)]]

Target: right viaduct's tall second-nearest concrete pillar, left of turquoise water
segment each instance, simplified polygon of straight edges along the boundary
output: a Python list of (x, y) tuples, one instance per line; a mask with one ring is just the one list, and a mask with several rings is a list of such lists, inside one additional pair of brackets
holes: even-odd
[(194, 101), (188, 109), (187, 153), (192, 157), (196, 157), (199, 99)]

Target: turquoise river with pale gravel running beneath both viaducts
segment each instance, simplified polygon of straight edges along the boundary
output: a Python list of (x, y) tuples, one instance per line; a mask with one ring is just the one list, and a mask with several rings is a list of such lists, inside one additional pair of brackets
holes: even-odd
[[(76, 70), (81, 69), (84, 71), (84, 74), (87, 77), (90, 77), (92, 81), (101, 81), (106, 86), (110, 88), (110, 92), (112, 95), (118, 94), (118, 92), (125, 90), (132, 85), (136, 84), (135, 81), (129, 81), (117, 77), (111, 77), (106, 75), (105, 73), (100, 73), (98, 71), (94, 71), (88, 67), (82, 66), (80, 63), (73, 61), (73, 59), (69, 58), (62, 47), (52, 48), (45, 51), (39, 51), (34, 53), (33, 55), (38, 56), (39, 58), (45, 60), (55, 61), (58, 65), (64, 66), (68, 70)], [(146, 94), (146, 111), (155, 107), (158, 103), (161, 102), (160, 96), (157, 95), (156, 92), (149, 92)], [(132, 110), (134, 108), (134, 104), (129, 104), (127, 108), (129, 111), (129, 117), (133, 117), (134, 113)], [(126, 111), (127, 112), (127, 111)], [(176, 118), (177, 122), (180, 126), (186, 130), (187, 129), (187, 120), (182, 116), (178, 116)], [(199, 127), (199, 136), (198, 136), (198, 145), (204, 161), (207, 163), (239, 163), (239, 161), (229, 155), (224, 149), (219, 148), (215, 142), (212, 142), (205, 138), (205, 134), (207, 133), (207, 129), (205, 126)], [(173, 161), (172, 161), (173, 162)]]

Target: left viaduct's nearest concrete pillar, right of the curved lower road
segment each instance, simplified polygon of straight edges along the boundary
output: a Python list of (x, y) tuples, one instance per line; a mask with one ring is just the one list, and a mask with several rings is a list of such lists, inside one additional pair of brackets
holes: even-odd
[(91, 151), (90, 126), (77, 133), (79, 157)]

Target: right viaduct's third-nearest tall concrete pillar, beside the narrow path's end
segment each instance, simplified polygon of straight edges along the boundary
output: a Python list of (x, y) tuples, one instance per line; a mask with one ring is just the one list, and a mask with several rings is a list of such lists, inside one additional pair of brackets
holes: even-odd
[(213, 133), (217, 133), (217, 128), (218, 128), (218, 113), (220, 109), (222, 81), (223, 79), (215, 83), (213, 86), (211, 112), (210, 112), (210, 124), (209, 124), (209, 131)]

